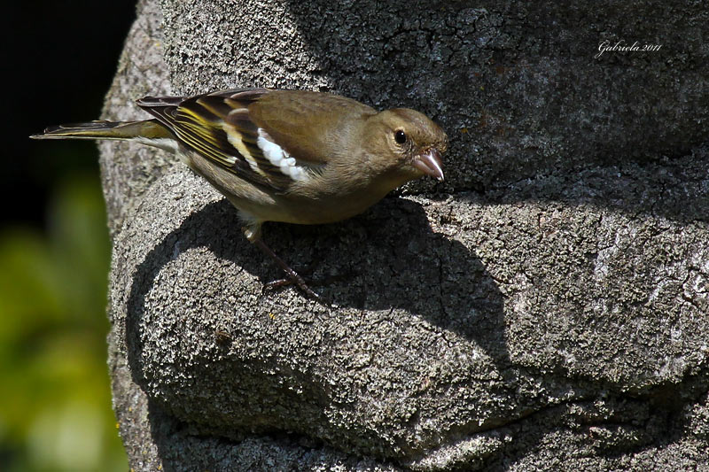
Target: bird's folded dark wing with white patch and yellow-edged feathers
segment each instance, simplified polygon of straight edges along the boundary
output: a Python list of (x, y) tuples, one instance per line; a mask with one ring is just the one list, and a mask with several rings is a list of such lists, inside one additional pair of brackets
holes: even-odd
[(144, 97), (137, 104), (183, 145), (245, 181), (284, 192), (308, 178), (309, 163), (293, 159), (253, 120), (249, 106), (269, 89), (232, 89), (194, 97)]

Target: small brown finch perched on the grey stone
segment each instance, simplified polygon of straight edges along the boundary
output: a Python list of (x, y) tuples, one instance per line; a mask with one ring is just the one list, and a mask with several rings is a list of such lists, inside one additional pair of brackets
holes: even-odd
[(407, 108), (377, 112), (346, 97), (277, 89), (144, 97), (137, 104), (155, 118), (62, 125), (30, 137), (131, 140), (177, 153), (237, 207), (248, 240), (316, 299), (263, 243), (263, 222), (345, 220), (405, 182), (443, 180), (448, 136)]

